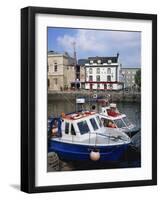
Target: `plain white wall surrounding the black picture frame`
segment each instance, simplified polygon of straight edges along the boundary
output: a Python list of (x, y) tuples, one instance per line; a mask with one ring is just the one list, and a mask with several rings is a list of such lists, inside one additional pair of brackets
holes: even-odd
[[(19, 191), (20, 183), (20, 8), (28, 5), (66, 7), (77, 9), (111, 10), (140, 13), (158, 13), (161, 21), (160, 0), (140, 1), (74, 1), (74, 0), (5, 0), (0, 7), (0, 111), (1, 111), (1, 140), (0, 140), (0, 188), (1, 199), (16, 200), (78, 200), (90, 198), (92, 200), (136, 200), (160, 199), (161, 196), (161, 160), (158, 156), (158, 186), (102, 189), (90, 191), (75, 191), (63, 193), (47, 193), (28, 195)], [(159, 24), (159, 23), (158, 23)], [(158, 27), (158, 52), (161, 52), (161, 26)], [(8, 54), (10, 56), (8, 57)], [(159, 55), (159, 54), (158, 54)], [(160, 66), (158, 56), (158, 66)], [(158, 67), (158, 77), (161, 69)], [(7, 75), (7, 77), (6, 77)], [(158, 79), (161, 85), (161, 79)], [(159, 87), (158, 87), (159, 88)], [(160, 89), (160, 88), (159, 88)], [(161, 102), (161, 93), (158, 90), (158, 102)], [(159, 112), (160, 111), (160, 112)], [(161, 106), (158, 105), (158, 121), (161, 121)], [(8, 120), (11, 117), (11, 120)], [(161, 141), (161, 123), (158, 123), (158, 144)], [(158, 154), (161, 154), (161, 145), (158, 145)]]

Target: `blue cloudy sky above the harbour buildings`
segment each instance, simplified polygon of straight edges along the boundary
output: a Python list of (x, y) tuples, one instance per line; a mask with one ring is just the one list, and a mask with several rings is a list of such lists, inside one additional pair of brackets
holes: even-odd
[(129, 31), (48, 28), (48, 50), (68, 52), (77, 59), (120, 54), (123, 67), (141, 67), (141, 33)]

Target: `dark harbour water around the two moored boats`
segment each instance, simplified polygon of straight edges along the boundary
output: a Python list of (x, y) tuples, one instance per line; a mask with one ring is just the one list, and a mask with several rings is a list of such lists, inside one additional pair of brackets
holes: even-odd
[[(115, 102), (117, 103), (117, 102)], [(83, 105), (83, 109), (89, 110), (92, 105), (96, 105), (99, 110), (98, 104), (95, 102), (87, 102)], [(117, 107), (121, 113), (125, 113), (129, 120), (141, 127), (141, 105), (136, 102), (118, 102)], [(64, 97), (61, 100), (48, 100), (48, 116), (54, 115), (59, 116), (62, 112), (70, 113), (79, 109), (75, 104), (75, 101), (69, 101)], [(55, 162), (55, 161), (53, 161)], [(113, 169), (113, 168), (133, 168), (141, 166), (141, 131), (139, 131), (132, 138), (132, 144), (128, 151), (122, 156), (120, 160), (114, 163), (107, 162), (65, 162), (59, 161), (59, 167), (52, 168), (55, 166), (52, 159), (48, 159), (48, 171), (70, 171), (70, 170), (91, 170), (91, 169)]]

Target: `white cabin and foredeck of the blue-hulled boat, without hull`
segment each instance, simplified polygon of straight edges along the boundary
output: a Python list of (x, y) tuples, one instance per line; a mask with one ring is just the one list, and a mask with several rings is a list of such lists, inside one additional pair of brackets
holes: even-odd
[(52, 140), (84, 145), (116, 145), (129, 143), (129, 137), (117, 129), (103, 126), (100, 115), (95, 112), (83, 111), (63, 114), (61, 136)]

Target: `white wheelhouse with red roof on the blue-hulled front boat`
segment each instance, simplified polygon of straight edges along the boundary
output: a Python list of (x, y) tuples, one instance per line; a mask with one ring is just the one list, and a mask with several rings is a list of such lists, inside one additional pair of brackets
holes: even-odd
[(103, 124), (95, 112), (81, 112), (62, 116), (62, 138), (81, 141), (102, 132)]

